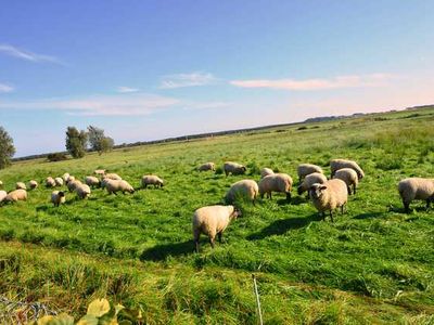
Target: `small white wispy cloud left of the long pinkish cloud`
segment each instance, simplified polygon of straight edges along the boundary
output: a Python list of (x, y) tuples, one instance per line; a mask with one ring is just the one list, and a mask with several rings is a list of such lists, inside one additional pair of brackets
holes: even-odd
[(212, 74), (195, 72), (191, 74), (166, 75), (162, 77), (161, 89), (174, 89), (182, 87), (196, 87), (210, 84), (217, 81)]

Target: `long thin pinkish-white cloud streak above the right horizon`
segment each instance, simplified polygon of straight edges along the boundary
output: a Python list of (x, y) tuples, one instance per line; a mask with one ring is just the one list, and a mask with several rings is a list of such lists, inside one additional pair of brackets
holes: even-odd
[(330, 79), (251, 79), (232, 80), (229, 83), (241, 88), (269, 88), (282, 90), (324, 90), (339, 88), (382, 87), (393, 78), (388, 74), (339, 76)]

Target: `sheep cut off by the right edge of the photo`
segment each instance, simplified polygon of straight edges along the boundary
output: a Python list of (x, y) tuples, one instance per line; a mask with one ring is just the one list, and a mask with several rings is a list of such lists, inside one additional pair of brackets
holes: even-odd
[(403, 199), (404, 209), (410, 212), (410, 203), (413, 199), (424, 199), (426, 209), (434, 202), (434, 179), (409, 178), (401, 180), (398, 184), (398, 192)]

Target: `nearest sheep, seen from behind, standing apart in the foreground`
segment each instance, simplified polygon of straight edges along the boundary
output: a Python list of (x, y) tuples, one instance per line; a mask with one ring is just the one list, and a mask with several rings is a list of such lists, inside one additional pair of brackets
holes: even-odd
[(222, 233), (232, 219), (237, 219), (241, 212), (233, 206), (207, 206), (194, 211), (193, 214), (193, 238), (194, 249), (199, 252), (199, 238), (205, 234), (209, 238), (210, 247), (214, 248), (216, 235), (221, 244)]

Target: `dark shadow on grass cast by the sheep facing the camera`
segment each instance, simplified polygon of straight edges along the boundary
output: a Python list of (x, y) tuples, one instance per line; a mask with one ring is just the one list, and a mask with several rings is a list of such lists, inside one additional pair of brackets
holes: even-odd
[(306, 218), (297, 217), (280, 219), (264, 227), (261, 231), (248, 235), (246, 238), (248, 240), (259, 240), (273, 235), (283, 235), (290, 230), (301, 229), (308, 225), (312, 221), (321, 220), (322, 218), (319, 216), (319, 213), (314, 213)]

